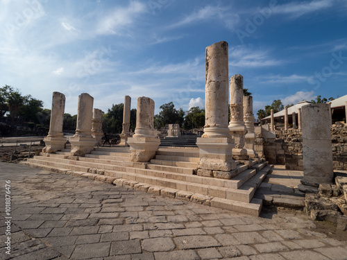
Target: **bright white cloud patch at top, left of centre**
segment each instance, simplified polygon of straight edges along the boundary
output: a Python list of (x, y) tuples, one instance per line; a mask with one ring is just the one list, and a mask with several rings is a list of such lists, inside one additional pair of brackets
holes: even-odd
[(135, 16), (145, 12), (146, 6), (137, 1), (130, 2), (126, 8), (116, 8), (99, 22), (97, 33), (103, 35), (118, 35), (124, 31), (124, 26), (133, 24)]

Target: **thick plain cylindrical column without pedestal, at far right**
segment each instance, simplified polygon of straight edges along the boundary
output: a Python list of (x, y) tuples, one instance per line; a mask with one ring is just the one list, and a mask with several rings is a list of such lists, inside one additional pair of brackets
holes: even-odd
[(334, 177), (329, 105), (310, 104), (302, 109), (304, 177), (301, 183), (319, 187), (331, 183)]

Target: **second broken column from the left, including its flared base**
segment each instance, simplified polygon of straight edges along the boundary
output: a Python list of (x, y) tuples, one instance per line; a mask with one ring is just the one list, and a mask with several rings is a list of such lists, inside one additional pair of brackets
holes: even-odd
[(90, 153), (96, 145), (96, 139), (92, 137), (93, 102), (94, 98), (90, 94), (78, 96), (76, 134), (69, 138), (70, 159), (78, 159), (79, 156)]

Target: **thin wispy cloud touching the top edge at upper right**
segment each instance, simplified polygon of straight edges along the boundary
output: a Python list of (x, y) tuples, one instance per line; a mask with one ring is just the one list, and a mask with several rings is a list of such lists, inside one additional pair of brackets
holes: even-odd
[(290, 15), (291, 18), (301, 17), (310, 12), (316, 12), (333, 5), (334, 0), (313, 0), (291, 2), (273, 7), (273, 13)]

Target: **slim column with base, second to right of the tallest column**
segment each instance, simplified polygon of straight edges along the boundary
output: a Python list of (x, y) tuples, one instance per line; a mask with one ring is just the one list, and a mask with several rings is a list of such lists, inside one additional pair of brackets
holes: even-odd
[(253, 116), (253, 96), (244, 96), (244, 122), (247, 128), (244, 148), (250, 158), (257, 158), (258, 155), (254, 150), (255, 132)]

